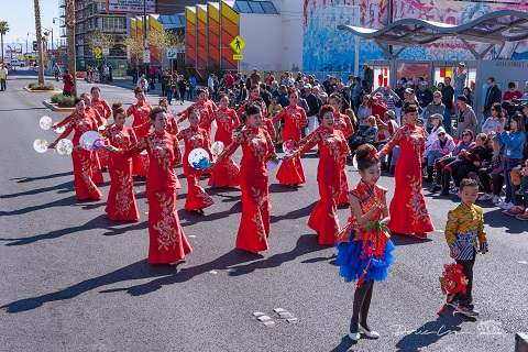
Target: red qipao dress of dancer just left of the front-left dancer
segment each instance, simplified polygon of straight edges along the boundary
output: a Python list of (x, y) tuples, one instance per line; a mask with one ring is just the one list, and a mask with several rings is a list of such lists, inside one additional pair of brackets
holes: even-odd
[[(108, 139), (110, 145), (120, 150), (128, 150), (138, 144), (134, 130), (125, 125), (113, 124), (102, 135)], [(132, 180), (132, 158), (110, 153), (108, 173), (110, 174), (110, 191), (105, 211), (110, 216), (110, 220), (140, 219)]]

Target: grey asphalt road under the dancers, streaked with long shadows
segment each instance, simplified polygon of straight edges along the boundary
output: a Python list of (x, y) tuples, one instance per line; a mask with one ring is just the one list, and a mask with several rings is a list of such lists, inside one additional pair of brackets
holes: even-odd
[[(443, 305), (438, 277), (452, 262), (442, 229), (458, 201), (426, 190), (437, 231), (427, 241), (393, 235), (396, 263), (387, 282), (375, 284), (369, 318), (382, 337), (353, 344), (346, 332), (355, 286), (338, 276), (336, 250), (318, 245), (307, 227), (318, 200), (314, 153), (302, 160), (308, 182), (297, 190), (271, 172), (271, 249), (260, 255), (234, 249), (240, 191), (208, 189), (216, 204), (206, 216), (187, 213), (178, 167), (179, 216), (194, 252), (178, 267), (148, 265), (144, 182), (135, 183), (136, 223), (111, 222), (106, 199), (78, 202), (70, 158), (33, 151), (35, 139), (55, 139), (40, 118), (67, 116), (44, 109), (50, 94), (23, 90), (34, 80), (13, 75), (0, 92), (1, 351), (513, 351), (515, 333), (528, 330), (527, 224), (490, 202), (490, 253), (477, 257), (473, 292), (481, 315), (436, 315)], [(79, 92), (89, 87), (78, 81)], [(134, 101), (130, 89), (101, 89), (109, 102)], [(352, 166), (348, 173), (358, 183)], [(380, 184), (391, 196), (394, 179)], [(341, 224), (348, 212), (339, 210)], [(275, 308), (299, 321), (276, 317)], [(258, 322), (256, 311), (276, 324)]]

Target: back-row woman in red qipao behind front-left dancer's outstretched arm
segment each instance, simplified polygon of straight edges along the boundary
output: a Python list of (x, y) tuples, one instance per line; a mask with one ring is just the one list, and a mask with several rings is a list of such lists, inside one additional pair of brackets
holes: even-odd
[[(145, 94), (143, 88), (134, 88), (136, 103), (130, 106), (127, 110), (127, 117), (133, 116), (134, 121), (132, 122), (132, 128), (135, 131), (135, 135), (139, 140), (147, 135), (151, 132), (151, 124), (148, 122), (148, 113), (152, 110), (150, 103), (145, 102)], [(132, 173), (138, 176), (146, 177), (148, 172), (148, 155), (136, 155), (132, 158)]]

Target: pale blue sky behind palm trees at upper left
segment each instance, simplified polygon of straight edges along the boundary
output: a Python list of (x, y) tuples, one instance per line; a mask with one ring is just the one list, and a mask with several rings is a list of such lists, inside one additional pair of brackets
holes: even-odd
[[(59, 21), (53, 18), (58, 18), (58, 0), (40, 0), (41, 1), (41, 23), (48, 30), (53, 29), (53, 40), (55, 46), (57, 45), (57, 38), (59, 38)], [(0, 11), (0, 21), (8, 21), (10, 31), (6, 33), (3, 37), (6, 44), (22, 43), (22, 48), (25, 53), (25, 40), (31, 42), (35, 40), (35, 36), (31, 33), (35, 33), (35, 11), (33, 0), (2, 0), (2, 10)], [(10, 2), (3, 3), (3, 2)], [(43, 30), (44, 31), (44, 30)], [(28, 35), (28, 32), (31, 32)], [(50, 38), (51, 40), (51, 38)], [(20, 44), (15, 47), (20, 48)], [(13, 47), (14, 48), (14, 47)]]

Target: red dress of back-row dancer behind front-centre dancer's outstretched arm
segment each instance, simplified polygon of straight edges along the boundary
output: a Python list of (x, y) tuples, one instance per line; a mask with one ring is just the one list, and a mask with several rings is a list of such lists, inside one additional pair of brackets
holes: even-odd
[[(226, 147), (233, 143), (233, 130), (240, 125), (239, 117), (233, 109), (220, 108), (215, 113), (218, 130), (215, 133), (215, 141), (220, 141)], [(234, 161), (228, 156), (215, 166), (211, 174), (209, 187), (237, 187), (240, 185), (240, 168)]]

